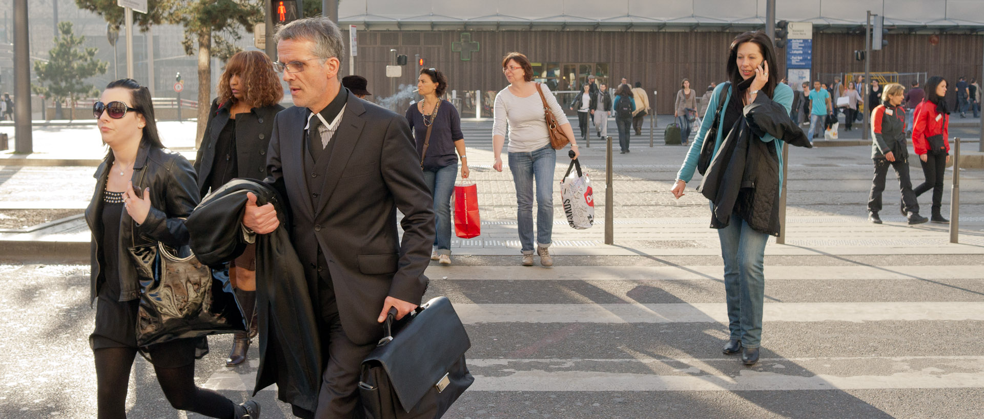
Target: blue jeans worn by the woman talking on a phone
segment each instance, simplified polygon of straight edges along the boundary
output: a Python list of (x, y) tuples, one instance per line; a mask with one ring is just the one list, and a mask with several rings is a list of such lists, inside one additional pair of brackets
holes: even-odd
[[(813, 125), (813, 124), (810, 124)], [(727, 227), (717, 230), (724, 259), (724, 294), (732, 339), (757, 348), (762, 342), (762, 304), (766, 295), (764, 259), (769, 234), (752, 229), (732, 214)]]

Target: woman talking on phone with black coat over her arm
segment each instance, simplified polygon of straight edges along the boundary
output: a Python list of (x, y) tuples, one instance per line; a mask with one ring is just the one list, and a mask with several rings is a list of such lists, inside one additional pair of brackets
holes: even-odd
[[(766, 279), (763, 267), (769, 235), (778, 235), (779, 229), (782, 148), (784, 143), (811, 147), (803, 131), (789, 119), (793, 91), (776, 83), (775, 74), (782, 72), (765, 32), (735, 37), (727, 61), (730, 83), (718, 85), (711, 94), (707, 114), (671, 190), (677, 199), (682, 197), (694, 169), (700, 165), (704, 170), (705, 161), (710, 162), (702, 192), (714, 197), (710, 203), (711, 227), (717, 228), (724, 260), (730, 338), (722, 352), (742, 352), (746, 365), (759, 361)], [(719, 100), (721, 95), (723, 101)], [(705, 148), (706, 142), (714, 143)], [(715, 163), (731, 158), (713, 158), (718, 153), (745, 164), (721, 167)], [(753, 187), (743, 187), (746, 180), (752, 181)]]

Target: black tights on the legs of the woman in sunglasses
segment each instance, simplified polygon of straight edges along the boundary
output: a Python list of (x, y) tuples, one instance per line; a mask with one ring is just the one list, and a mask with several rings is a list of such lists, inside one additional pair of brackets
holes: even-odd
[[(114, 347), (93, 351), (97, 381), (98, 419), (126, 418), (126, 390), (135, 348)], [(157, 383), (175, 409), (188, 410), (214, 418), (231, 418), (232, 401), (211, 390), (195, 387), (195, 363), (178, 368), (154, 367)]]

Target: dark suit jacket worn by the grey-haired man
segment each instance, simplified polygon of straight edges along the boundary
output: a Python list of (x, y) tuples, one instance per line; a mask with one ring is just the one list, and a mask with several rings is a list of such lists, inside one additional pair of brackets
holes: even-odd
[[(355, 94), (348, 95), (332, 140), (323, 186), (309, 190), (308, 112), (292, 106), (277, 114), (265, 182), (287, 201), (291, 240), (305, 268), (316, 262), (319, 246), (324, 252), (345, 335), (356, 344), (375, 342), (382, 337), (376, 319), (386, 297), (420, 304), (427, 288), (433, 200), (406, 119)], [(314, 269), (305, 276), (309, 284), (318, 281)]]

